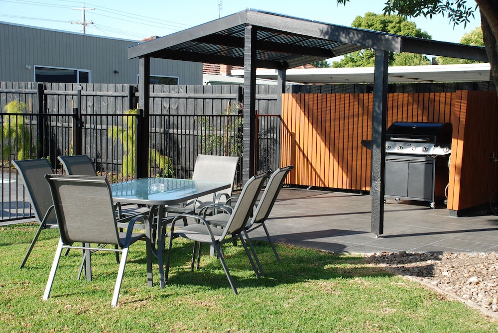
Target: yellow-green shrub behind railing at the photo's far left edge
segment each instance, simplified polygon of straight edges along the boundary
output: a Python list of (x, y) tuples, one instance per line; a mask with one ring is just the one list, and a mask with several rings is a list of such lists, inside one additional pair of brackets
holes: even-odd
[(10, 155), (15, 155), (18, 160), (33, 158), (29, 125), (26, 124), (24, 115), (19, 114), (25, 113), (26, 104), (12, 101), (3, 109), (9, 114), (3, 116), (2, 160), (10, 160)]

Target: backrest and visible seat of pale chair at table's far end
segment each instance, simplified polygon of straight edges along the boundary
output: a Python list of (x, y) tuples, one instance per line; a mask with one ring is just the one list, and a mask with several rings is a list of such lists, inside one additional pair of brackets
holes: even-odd
[[(195, 160), (192, 179), (230, 183), (232, 185), (230, 188), (216, 193), (217, 196), (226, 195), (227, 198), (225, 199), (228, 199), (232, 196), (232, 189), (234, 188), (234, 180), (237, 173), (237, 166), (239, 165), (239, 159), (240, 157), (238, 156), (199, 154)], [(210, 194), (199, 197), (197, 198), (197, 201), (209, 204), (213, 202), (213, 195)]]

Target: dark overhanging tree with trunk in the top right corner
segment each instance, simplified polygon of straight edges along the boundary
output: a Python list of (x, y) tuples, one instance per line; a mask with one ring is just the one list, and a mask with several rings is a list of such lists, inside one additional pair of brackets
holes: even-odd
[[(453, 25), (467, 25), (470, 17), (474, 17), (477, 8), (481, 12), (481, 29), (488, 60), (491, 64), (491, 77), (498, 87), (498, 1), (475, 0), (477, 6), (467, 6), (466, 0), (386, 0), (384, 14), (396, 13), (403, 17), (435, 15), (447, 16)], [(349, 0), (337, 0), (346, 4)], [(497, 92), (498, 94), (498, 92)]]

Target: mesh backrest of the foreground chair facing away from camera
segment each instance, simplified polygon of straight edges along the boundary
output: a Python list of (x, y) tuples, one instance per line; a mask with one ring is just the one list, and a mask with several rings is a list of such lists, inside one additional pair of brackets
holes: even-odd
[(111, 187), (105, 176), (45, 175), (61, 240), (115, 244), (120, 241)]

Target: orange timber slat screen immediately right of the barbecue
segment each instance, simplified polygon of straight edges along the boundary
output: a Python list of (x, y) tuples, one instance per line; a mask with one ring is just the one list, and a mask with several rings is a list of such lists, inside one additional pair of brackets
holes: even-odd
[(448, 209), (459, 211), (488, 203), (498, 189), (498, 99), (458, 91), (453, 103)]

